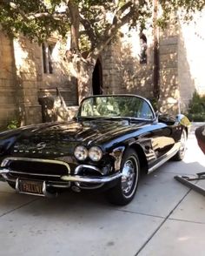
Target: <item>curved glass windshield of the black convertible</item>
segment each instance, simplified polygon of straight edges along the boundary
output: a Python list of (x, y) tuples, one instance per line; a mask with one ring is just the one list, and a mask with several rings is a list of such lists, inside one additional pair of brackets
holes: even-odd
[(144, 98), (136, 96), (97, 96), (85, 98), (78, 112), (84, 118), (153, 119), (154, 113)]

